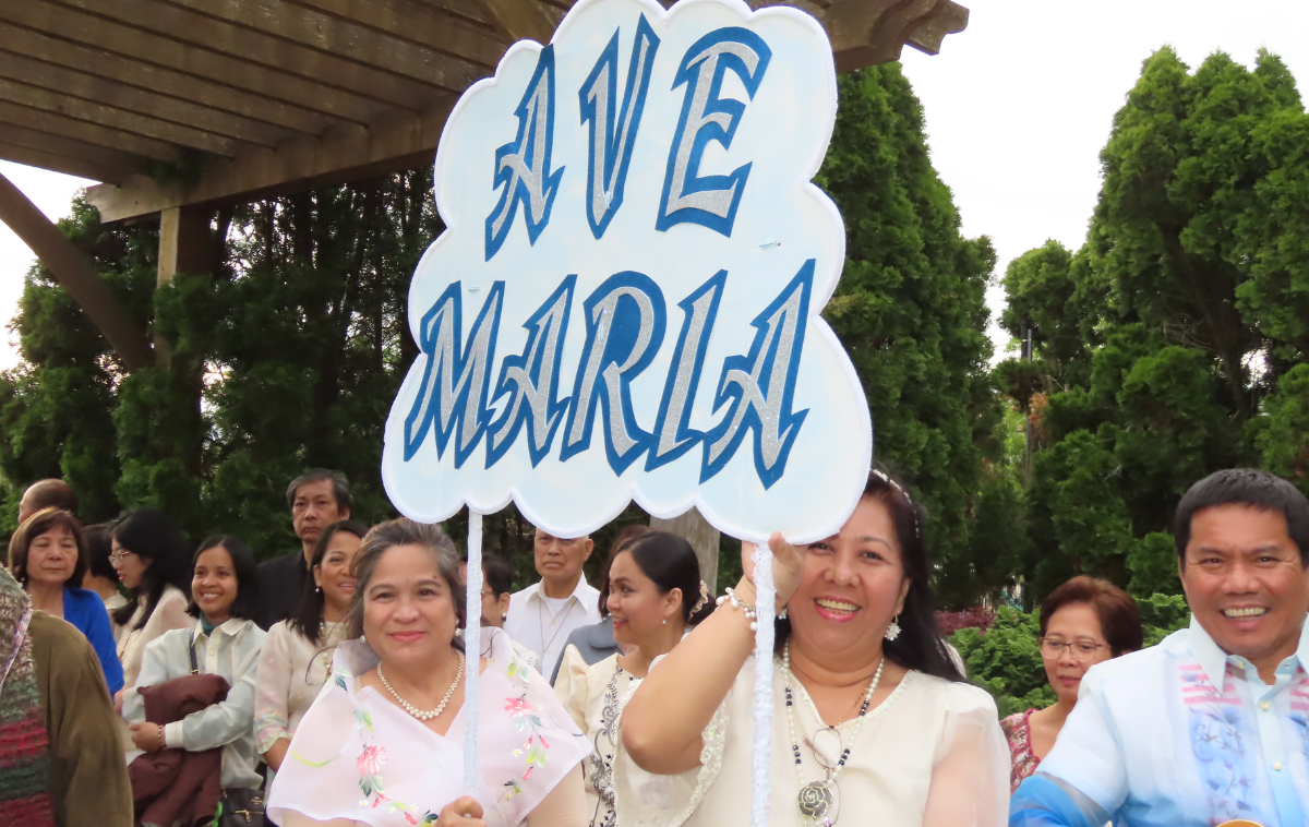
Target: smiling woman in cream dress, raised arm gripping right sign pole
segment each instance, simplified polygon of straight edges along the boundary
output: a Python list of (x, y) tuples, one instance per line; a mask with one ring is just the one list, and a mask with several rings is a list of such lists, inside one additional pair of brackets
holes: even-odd
[[(932, 616), (923, 510), (880, 470), (840, 531), (775, 534), (776, 669), (770, 824), (999, 827), (1008, 751), (996, 708), (963, 683)], [(696, 827), (749, 822), (753, 564), (713, 615), (641, 683), (622, 741), (643, 769), (695, 776), (681, 811), (628, 794), (624, 813)], [(844, 818), (842, 818), (844, 817)]]

